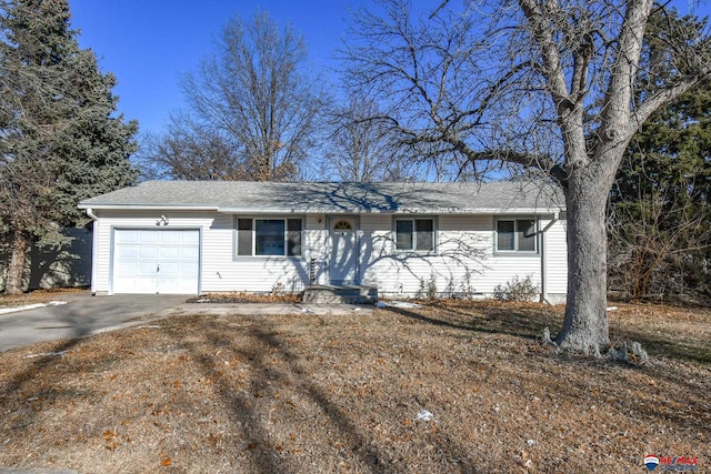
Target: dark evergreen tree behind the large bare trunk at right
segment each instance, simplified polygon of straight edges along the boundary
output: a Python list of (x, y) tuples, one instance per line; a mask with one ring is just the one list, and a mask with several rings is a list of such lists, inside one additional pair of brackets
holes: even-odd
[[(650, 18), (638, 97), (688, 67), (687, 58), (669, 48), (667, 22), (659, 13)], [(693, 17), (674, 22), (689, 31), (707, 28)], [(658, 73), (645, 72), (651, 69)], [(711, 296), (710, 192), (711, 81), (705, 81), (660, 108), (630, 141), (609, 209), (611, 285), (634, 299)]]

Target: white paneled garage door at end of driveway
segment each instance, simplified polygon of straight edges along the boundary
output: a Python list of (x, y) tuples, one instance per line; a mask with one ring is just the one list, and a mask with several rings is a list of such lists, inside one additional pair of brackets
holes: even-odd
[(117, 229), (113, 292), (198, 294), (198, 230)]

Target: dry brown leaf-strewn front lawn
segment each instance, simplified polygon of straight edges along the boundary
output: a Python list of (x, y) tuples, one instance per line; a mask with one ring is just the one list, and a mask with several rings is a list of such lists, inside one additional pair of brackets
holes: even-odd
[(711, 312), (620, 306), (612, 337), (642, 342), (647, 365), (542, 345), (561, 312), (183, 315), (9, 351), (0, 466), (612, 473), (645, 472), (655, 453), (710, 472)]

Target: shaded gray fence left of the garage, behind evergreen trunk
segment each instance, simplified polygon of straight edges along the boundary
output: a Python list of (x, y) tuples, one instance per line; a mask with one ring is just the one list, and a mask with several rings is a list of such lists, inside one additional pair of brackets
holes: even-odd
[[(33, 245), (27, 254), (22, 288), (24, 290), (88, 286), (91, 280), (91, 232), (64, 229), (70, 239), (57, 248)], [(4, 289), (10, 249), (0, 244), (0, 290)]]

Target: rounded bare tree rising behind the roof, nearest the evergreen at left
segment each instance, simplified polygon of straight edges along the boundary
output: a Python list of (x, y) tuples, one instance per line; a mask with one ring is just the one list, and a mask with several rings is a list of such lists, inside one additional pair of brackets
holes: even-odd
[(180, 179), (296, 179), (326, 102), (302, 38), (257, 13), (230, 20), (217, 48), (183, 80), (189, 111), (144, 144), (142, 161)]

